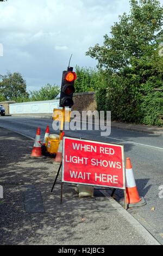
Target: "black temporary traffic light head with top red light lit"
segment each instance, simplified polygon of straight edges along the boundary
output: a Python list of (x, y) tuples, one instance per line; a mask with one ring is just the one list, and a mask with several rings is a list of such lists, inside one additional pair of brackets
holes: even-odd
[(62, 74), (61, 92), (59, 106), (73, 106), (73, 93), (75, 92), (74, 81), (77, 79), (77, 75), (73, 72), (72, 67), (68, 67)]

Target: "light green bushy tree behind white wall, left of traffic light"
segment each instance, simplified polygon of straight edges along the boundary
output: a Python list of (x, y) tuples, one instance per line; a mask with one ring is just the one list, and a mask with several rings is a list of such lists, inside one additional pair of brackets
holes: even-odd
[(30, 100), (32, 101), (36, 101), (36, 100), (52, 100), (55, 99), (58, 94), (60, 92), (60, 87), (57, 85), (50, 85), (47, 84), (43, 87), (41, 87), (41, 89), (39, 91), (30, 91)]

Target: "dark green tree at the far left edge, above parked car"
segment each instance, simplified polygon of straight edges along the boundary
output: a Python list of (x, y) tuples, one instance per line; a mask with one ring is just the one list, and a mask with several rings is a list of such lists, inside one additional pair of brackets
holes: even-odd
[(0, 90), (5, 99), (11, 100), (17, 97), (28, 97), (26, 81), (20, 73), (0, 75)]

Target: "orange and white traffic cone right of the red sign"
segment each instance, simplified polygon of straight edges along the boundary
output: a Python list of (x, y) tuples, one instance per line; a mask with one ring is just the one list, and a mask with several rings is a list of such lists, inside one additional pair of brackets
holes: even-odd
[[(128, 207), (146, 205), (145, 199), (139, 196), (130, 158), (126, 159), (126, 201)], [(124, 200), (121, 201), (121, 205), (124, 205)]]

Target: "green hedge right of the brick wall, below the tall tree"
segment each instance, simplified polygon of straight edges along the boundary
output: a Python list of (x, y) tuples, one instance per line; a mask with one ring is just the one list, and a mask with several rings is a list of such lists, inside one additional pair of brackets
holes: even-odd
[(110, 110), (114, 121), (163, 126), (163, 93), (154, 92), (154, 85), (113, 75), (96, 91), (96, 101), (98, 111)]

